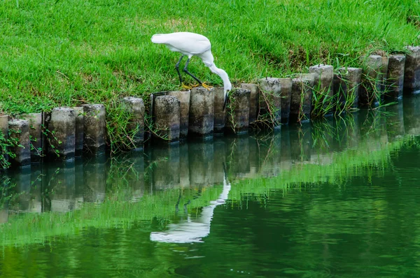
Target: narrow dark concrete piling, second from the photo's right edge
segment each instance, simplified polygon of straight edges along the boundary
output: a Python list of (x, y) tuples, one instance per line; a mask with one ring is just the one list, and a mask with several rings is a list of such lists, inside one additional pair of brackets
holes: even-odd
[(404, 91), (405, 55), (395, 54), (388, 57), (385, 101), (399, 101)]

